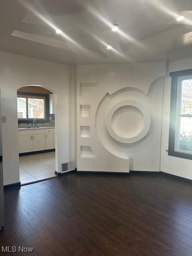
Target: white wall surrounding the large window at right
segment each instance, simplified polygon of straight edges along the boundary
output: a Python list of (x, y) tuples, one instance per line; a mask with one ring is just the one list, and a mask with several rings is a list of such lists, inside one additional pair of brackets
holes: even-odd
[(170, 118), (170, 96), (171, 78), (170, 72), (186, 70), (192, 68), (192, 58), (177, 60), (168, 63), (167, 77), (164, 82), (163, 100), (163, 122), (162, 122), (162, 144), (161, 144), (161, 171), (174, 174), (183, 178), (192, 179), (192, 160), (168, 156), (169, 143), (169, 118)]

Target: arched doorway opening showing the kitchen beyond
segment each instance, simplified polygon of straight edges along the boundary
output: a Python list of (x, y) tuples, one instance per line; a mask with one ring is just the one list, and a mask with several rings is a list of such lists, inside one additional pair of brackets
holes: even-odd
[(55, 175), (54, 94), (42, 86), (17, 90), (19, 172), (21, 185)]

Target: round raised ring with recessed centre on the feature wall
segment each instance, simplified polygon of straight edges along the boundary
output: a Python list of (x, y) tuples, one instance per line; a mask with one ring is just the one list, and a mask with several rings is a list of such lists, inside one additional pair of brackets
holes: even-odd
[(141, 140), (150, 129), (150, 114), (145, 106), (134, 100), (123, 100), (109, 110), (106, 128), (109, 134), (122, 143)]

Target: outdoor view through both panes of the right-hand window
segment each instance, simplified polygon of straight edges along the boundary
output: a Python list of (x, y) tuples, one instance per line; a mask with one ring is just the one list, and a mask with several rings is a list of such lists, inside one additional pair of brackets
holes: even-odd
[(192, 78), (182, 80), (178, 150), (192, 152)]

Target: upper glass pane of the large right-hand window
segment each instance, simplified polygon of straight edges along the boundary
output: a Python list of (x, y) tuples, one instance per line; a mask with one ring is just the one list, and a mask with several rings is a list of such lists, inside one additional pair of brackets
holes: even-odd
[(192, 115), (192, 79), (182, 80), (181, 114)]

